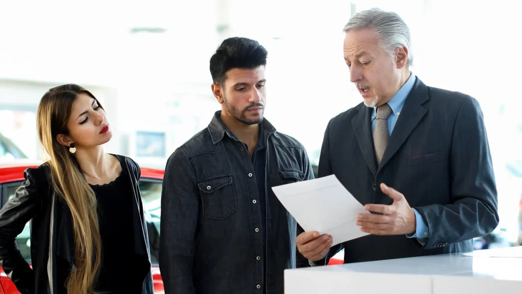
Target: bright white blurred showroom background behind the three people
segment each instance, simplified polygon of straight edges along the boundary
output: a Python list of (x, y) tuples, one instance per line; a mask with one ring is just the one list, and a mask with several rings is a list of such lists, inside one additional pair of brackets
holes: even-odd
[(522, 241), (518, 1), (0, 3), (0, 162), (41, 160), (38, 102), (49, 88), (76, 83), (108, 112), (114, 137), (107, 150), (159, 169), (220, 109), (209, 59), (232, 36), (268, 50), (265, 117), (301, 141), (317, 165), (329, 119), (361, 102), (343, 61), (343, 25), (360, 10), (392, 10), (411, 30), (412, 72), (473, 96), (484, 112), (501, 221), (477, 248)]

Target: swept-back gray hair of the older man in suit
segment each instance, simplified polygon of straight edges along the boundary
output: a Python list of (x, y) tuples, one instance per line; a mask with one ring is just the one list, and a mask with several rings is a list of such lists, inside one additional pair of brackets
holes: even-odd
[(398, 14), (379, 8), (363, 10), (350, 18), (343, 31), (365, 28), (375, 32), (381, 46), (388, 54), (393, 54), (396, 48), (403, 46), (408, 48), (408, 66), (413, 65), (410, 29)]

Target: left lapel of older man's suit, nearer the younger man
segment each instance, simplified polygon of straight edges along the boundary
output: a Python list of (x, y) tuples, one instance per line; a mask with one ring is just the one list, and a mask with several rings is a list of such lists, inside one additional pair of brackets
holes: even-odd
[(352, 127), (355, 138), (359, 143), (362, 156), (373, 176), (377, 173), (377, 161), (375, 160), (375, 152), (373, 149), (372, 138), (372, 108), (361, 104), (358, 107), (359, 114), (352, 118)]

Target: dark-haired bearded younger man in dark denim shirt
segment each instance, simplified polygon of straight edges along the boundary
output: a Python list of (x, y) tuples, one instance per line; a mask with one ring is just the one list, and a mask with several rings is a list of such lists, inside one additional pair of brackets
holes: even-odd
[(294, 243), (302, 229), (271, 188), (312, 179), (312, 168), (303, 145), (263, 119), (266, 57), (230, 38), (210, 59), (221, 110), (165, 168), (165, 293), (278, 294), (284, 269), (309, 266)]

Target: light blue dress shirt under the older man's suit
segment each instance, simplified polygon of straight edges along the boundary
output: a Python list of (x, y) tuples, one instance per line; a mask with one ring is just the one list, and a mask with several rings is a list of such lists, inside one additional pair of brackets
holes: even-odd
[[(406, 101), (406, 97), (411, 92), (411, 89), (413, 88), (413, 85), (415, 84), (415, 75), (411, 73), (410, 77), (408, 78), (408, 81), (402, 86), (399, 91), (388, 101), (388, 105), (392, 108), (392, 114), (388, 117), (388, 132), (390, 136), (392, 135), (393, 129), (395, 127), (395, 123), (397, 123), (397, 119), (399, 118), (400, 111), (402, 110), (402, 106), (404, 106), (404, 103)], [(376, 108), (374, 107), (372, 110), (372, 132), (375, 129), (375, 118), (376, 118)], [(426, 227), (426, 224), (424, 223), (424, 220), (421, 217), (421, 214), (419, 211), (413, 208), (413, 211), (415, 212), (415, 218), (417, 222), (417, 229), (414, 234), (408, 234), (406, 235), (408, 238), (418, 238), (418, 239), (424, 239), (429, 237), (428, 233), (428, 227)]]

